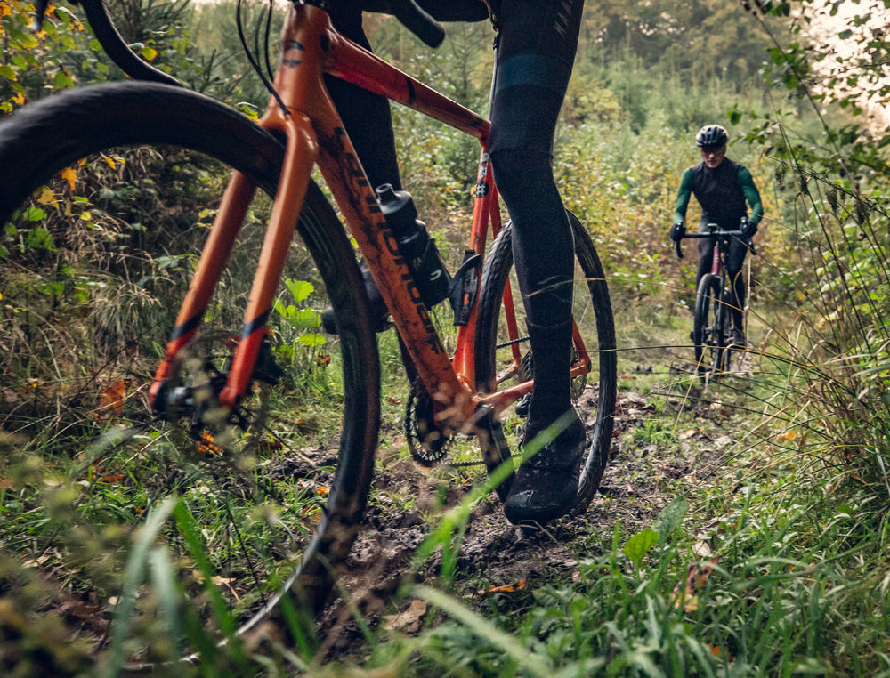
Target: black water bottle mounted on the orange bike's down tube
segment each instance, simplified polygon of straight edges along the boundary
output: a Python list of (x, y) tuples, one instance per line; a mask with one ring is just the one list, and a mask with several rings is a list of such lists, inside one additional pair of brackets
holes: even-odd
[(376, 194), (420, 296), (427, 308), (433, 308), (448, 297), (451, 280), (436, 241), (426, 232), (426, 224), (417, 219), (417, 207), (407, 191), (393, 190), (392, 184), (384, 183), (377, 187)]

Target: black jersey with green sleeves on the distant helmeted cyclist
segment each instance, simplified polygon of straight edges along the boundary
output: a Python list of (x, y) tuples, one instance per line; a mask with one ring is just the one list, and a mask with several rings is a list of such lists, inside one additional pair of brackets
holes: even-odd
[(760, 191), (748, 168), (728, 157), (714, 169), (699, 163), (683, 173), (676, 194), (674, 223), (686, 220), (686, 208), (692, 195), (701, 206), (701, 221), (718, 223), (725, 230), (739, 228), (741, 218), (748, 215), (746, 201), (751, 206), (751, 222), (760, 222), (764, 215)]

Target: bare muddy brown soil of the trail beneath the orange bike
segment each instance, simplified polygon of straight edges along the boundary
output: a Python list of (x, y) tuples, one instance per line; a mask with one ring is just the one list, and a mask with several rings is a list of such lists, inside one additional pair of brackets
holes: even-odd
[[(729, 415), (707, 392), (699, 396), (682, 403), (687, 412), (693, 410), (695, 428), (671, 436), (664, 445), (635, 434), (646, 426), (646, 420), (656, 417), (651, 400), (633, 391), (619, 393), (611, 461), (599, 492), (579, 515), (543, 529), (517, 528), (506, 521), (495, 497), (478, 502), (457, 555), (451, 593), (473, 604), (474, 599), (481, 602), (493, 592), (571, 581), (578, 577), (579, 559), (611, 549), (617, 522), (627, 538), (650, 527), (677, 494), (708, 482), (731, 441), (724, 431)], [(676, 414), (680, 407), (678, 398), (668, 398), (662, 409)], [(659, 414), (653, 422), (666, 419), (673, 417)], [(345, 581), (366, 620), (411, 634), (424, 622), (425, 603), (410, 596), (393, 599), (393, 594), (407, 580), (441, 584), (441, 550), (424, 563), (413, 563), (428, 526), (435, 524), (424, 516), (435, 510), (437, 501), (441, 503), (442, 487), (447, 495), (444, 508), (457, 504), (470, 487), (442, 486), (440, 477), (413, 462), (383, 459), (378, 466), (378, 499), (372, 501), (346, 563)], [(405, 511), (395, 501), (380, 501), (381, 496), (416, 497), (416, 501), (412, 510)], [(342, 603), (334, 607), (323, 627), (328, 658), (347, 660), (367, 652), (354, 614)]]

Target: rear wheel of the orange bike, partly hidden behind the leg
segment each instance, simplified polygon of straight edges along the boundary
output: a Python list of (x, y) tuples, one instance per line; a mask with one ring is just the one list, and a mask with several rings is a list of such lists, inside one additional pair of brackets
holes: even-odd
[[(580, 513), (599, 488), (609, 461), (614, 423), (618, 367), (615, 325), (603, 264), (587, 231), (578, 218), (569, 214), (575, 238), (575, 287), (573, 315), (592, 362), (588, 375), (572, 381), (571, 397), (587, 428), (587, 453), (583, 459), (578, 496), (572, 513)], [(505, 291), (510, 295), (518, 320), (520, 336), (510, 338), (505, 315)], [(521, 383), (531, 378), (533, 357), (525, 335), (525, 309), (519, 294), (513, 265), (513, 225), (507, 222), (491, 246), (482, 271), (479, 312), (476, 319), (475, 369), (481, 391)], [(514, 345), (521, 346), (522, 363), (514, 366)], [(522, 440), (524, 418), (513, 408), (501, 417), (506, 429), (514, 432), (513, 444)]]

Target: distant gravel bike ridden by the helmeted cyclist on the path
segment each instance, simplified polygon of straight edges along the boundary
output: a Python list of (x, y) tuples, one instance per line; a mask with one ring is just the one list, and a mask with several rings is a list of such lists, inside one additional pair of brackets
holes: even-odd
[[(711, 270), (701, 277), (696, 289), (691, 337), (696, 370), (699, 374), (719, 375), (730, 369), (733, 345), (731, 313), (735, 297), (725, 260), (732, 239), (742, 238), (742, 231), (722, 230), (716, 223), (708, 223), (706, 229), (684, 234), (684, 238), (707, 238), (714, 253)], [(681, 242), (676, 241), (676, 254), (682, 259)]]

